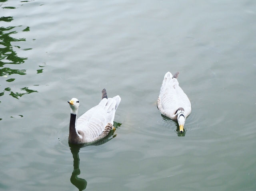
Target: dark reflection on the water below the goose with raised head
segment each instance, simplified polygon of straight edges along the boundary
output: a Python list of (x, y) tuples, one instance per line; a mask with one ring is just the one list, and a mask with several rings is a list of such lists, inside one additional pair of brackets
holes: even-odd
[[(114, 122), (114, 127), (118, 128), (121, 124)], [(85, 179), (79, 178), (78, 175), (80, 175), (80, 159), (79, 159), (79, 150), (80, 148), (86, 147), (86, 146), (98, 146), (102, 145), (108, 141), (110, 141), (112, 138), (116, 137), (116, 134), (114, 134), (115, 130), (111, 130), (108, 136), (106, 136), (104, 139), (99, 140), (98, 142), (92, 143), (92, 144), (69, 144), (71, 153), (73, 155), (73, 166), (74, 170), (72, 172), (72, 175), (70, 177), (70, 182), (78, 188), (79, 191), (85, 190), (87, 186), (87, 181)]]

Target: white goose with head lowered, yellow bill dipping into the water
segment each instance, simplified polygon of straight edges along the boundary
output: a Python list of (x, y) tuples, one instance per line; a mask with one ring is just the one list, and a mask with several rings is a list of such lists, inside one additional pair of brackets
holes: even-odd
[(191, 113), (191, 103), (188, 96), (179, 86), (178, 75), (179, 72), (176, 72), (174, 75), (167, 72), (164, 75), (157, 99), (157, 108), (163, 115), (178, 121), (180, 132), (183, 132), (186, 117)]

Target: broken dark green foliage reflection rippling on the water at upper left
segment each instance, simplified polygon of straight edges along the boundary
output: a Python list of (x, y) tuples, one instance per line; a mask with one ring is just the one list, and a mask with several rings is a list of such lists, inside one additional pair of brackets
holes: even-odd
[[(1, 4), (1, 9), (5, 9), (5, 13), (7, 14), (11, 14), (12, 12), (8, 11), (8, 9), (16, 9), (16, 7), (13, 6), (13, 4), (11, 6), (8, 4), (11, 4), (11, 2), (8, 2), (7, 0), (4, 1), (4, 4)], [(6, 26), (3, 25), (0, 27), (0, 78), (7, 78), (0, 84), (0, 96), (2, 99), (0, 103), (4, 104), (5, 101), (8, 100), (5, 95), (10, 95), (13, 98), (19, 99), (24, 95), (38, 91), (32, 89), (30, 84), (24, 85), (23, 83), (22, 87), (18, 86), (18, 82), (21, 78), (17, 77), (17, 75), (27, 75), (27, 69), (21, 67), (28, 60), (28, 57), (21, 57), (19, 56), (19, 53), (20, 51), (30, 51), (32, 48), (21, 48), (22, 43), (17, 43), (25, 42), (26, 38), (15, 37), (17, 36), (15, 34), (20, 35), (23, 34), (23, 32), (30, 32), (30, 27), (8, 25), (9, 23), (12, 24), (12, 22), (14, 22), (12, 16), (2, 16), (0, 17), (0, 21), (6, 23)], [(18, 65), (20, 65), (20, 67)], [(42, 72), (43, 69), (37, 70), (37, 73)], [(12, 78), (10, 78), (11, 75), (13, 76)]]

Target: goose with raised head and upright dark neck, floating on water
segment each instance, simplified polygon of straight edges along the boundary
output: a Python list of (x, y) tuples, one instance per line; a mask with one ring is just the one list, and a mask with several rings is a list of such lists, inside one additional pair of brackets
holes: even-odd
[(119, 95), (108, 98), (106, 89), (103, 89), (100, 103), (78, 119), (79, 100), (72, 98), (68, 101), (71, 110), (68, 141), (72, 144), (92, 143), (107, 136), (114, 129), (114, 116), (120, 101)]

